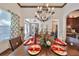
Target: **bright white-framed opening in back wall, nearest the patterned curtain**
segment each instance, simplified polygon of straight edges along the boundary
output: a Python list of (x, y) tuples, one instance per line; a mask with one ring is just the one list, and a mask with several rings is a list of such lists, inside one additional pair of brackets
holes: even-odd
[(39, 28), (39, 24), (35, 22), (36, 19), (25, 19), (25, 39), (29, 38), (30, 36), (35, 35), (36, 27)]

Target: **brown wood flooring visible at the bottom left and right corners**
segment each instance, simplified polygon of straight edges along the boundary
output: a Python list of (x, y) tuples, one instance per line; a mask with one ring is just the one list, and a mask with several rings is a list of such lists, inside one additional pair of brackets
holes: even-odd
[[(68, 52), (68, 56), (79, 56), (79, 50), (77, 50), (76, 48), (69, 46), (69, 45), (67, 47), (67, 52)], [(12, 50), (7, 49), (3, 53), (1, 53), (0, 56), (8, 56), (10, 53), (12, 53)], [(53, 55), (53, 56), (55, 56), (55, 55)]]

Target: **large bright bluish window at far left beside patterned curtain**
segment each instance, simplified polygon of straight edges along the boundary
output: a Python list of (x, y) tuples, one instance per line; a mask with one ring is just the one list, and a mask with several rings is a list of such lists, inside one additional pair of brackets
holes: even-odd
[(0, 10), (0, 41), (10, 39), (11, 14)]

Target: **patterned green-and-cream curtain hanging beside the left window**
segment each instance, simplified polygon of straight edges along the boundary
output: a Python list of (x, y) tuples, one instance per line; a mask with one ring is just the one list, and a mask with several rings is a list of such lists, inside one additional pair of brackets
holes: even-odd
[(20, 17), (13, 12), (11, 12), (11, 38), (16, 38), (21, 35), (21, 27), (20, 27)]

